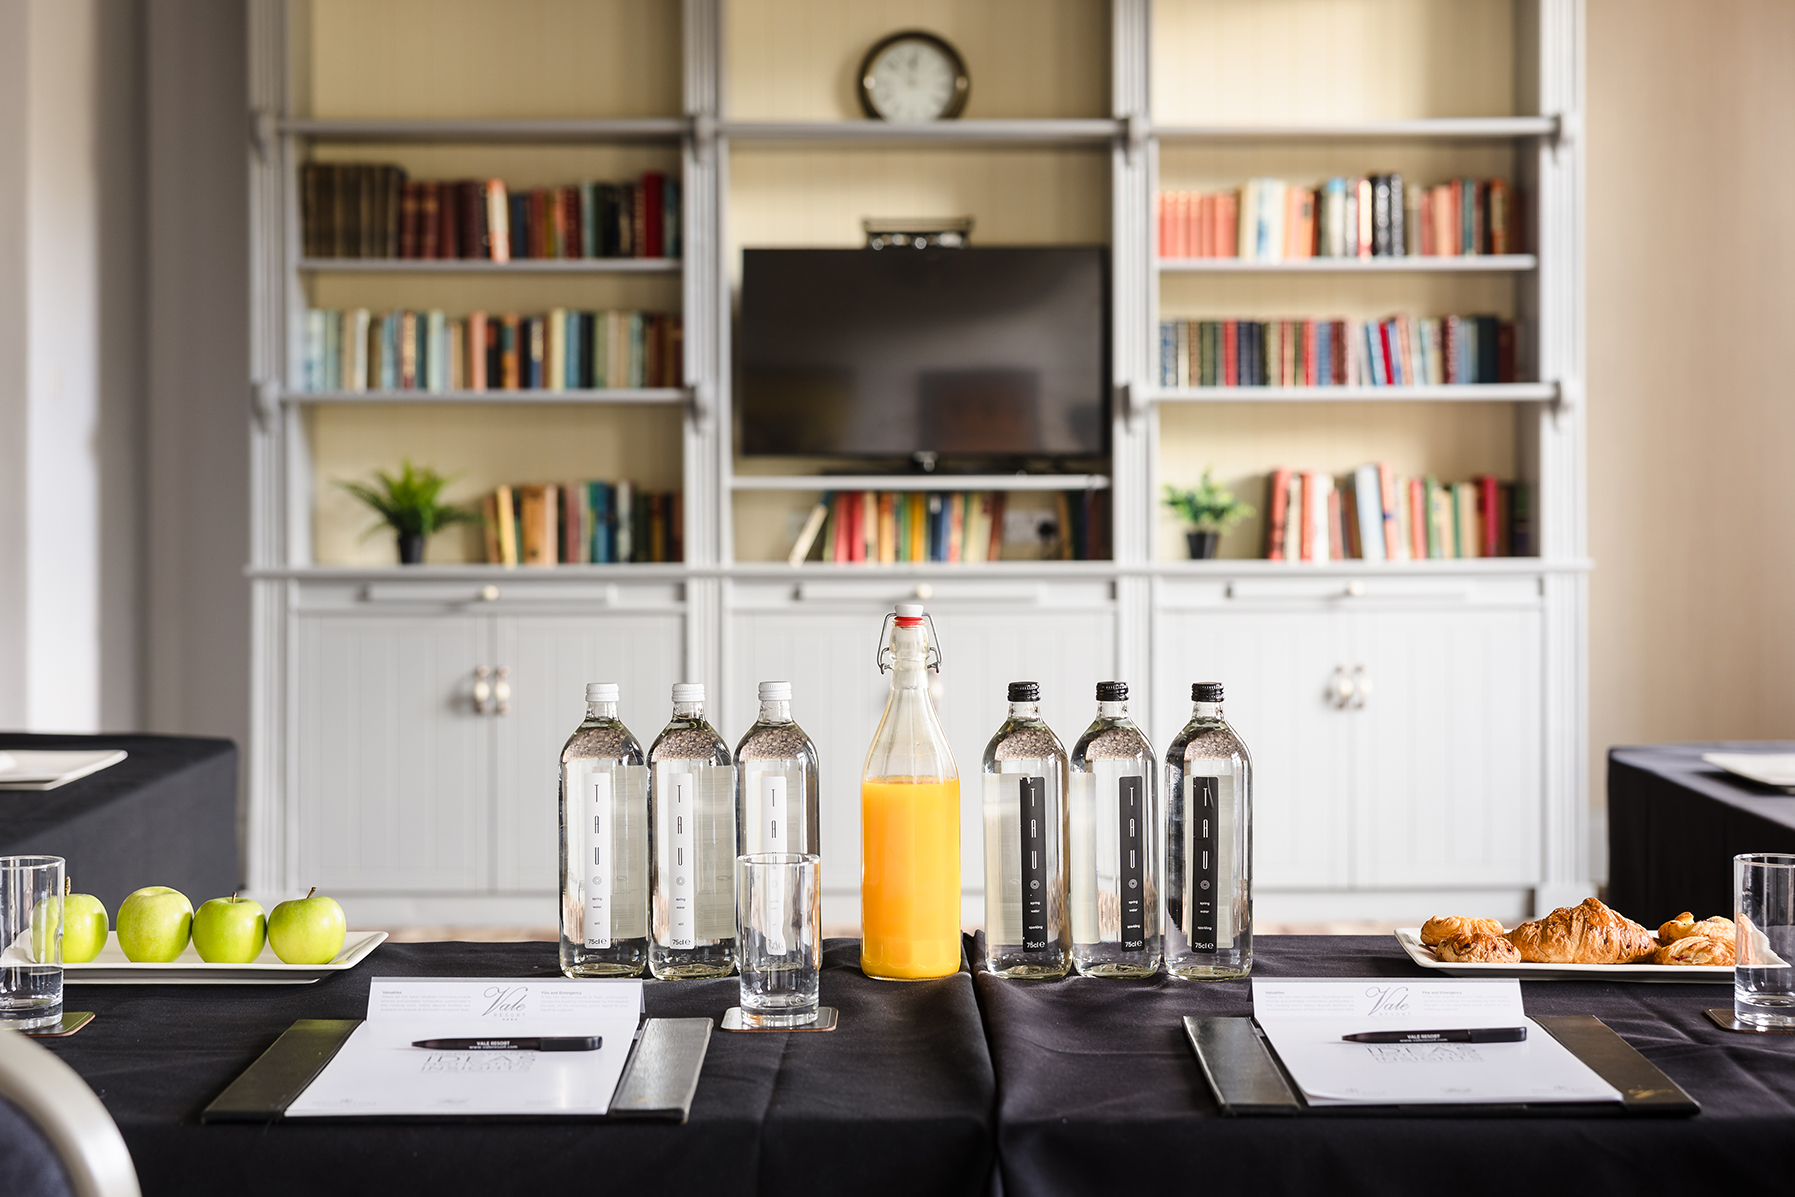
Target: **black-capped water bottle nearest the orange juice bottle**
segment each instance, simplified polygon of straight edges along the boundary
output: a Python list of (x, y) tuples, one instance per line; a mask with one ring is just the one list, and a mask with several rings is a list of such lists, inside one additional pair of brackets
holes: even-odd
[(1009, 718), (985, 745), (985, 969), (1054, 978), (1072, 964), (1066, 919), (1066, 750), (1041, 720), (1041, 687), (1009, 684)]

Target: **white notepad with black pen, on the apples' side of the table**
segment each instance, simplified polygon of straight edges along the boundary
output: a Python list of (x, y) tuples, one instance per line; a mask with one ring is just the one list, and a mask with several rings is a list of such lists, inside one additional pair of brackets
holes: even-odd
[[(635, 980), (375, 976), (368, 1021), (287, 1118), (603, 1114), (643, 1014)], [(601, 1035), (596, 1052), (440, 1052), (418, 1039)]]

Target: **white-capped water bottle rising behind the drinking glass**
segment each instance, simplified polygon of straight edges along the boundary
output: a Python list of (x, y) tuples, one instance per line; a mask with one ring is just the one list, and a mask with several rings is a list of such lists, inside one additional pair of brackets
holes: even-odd
[(820, 856), (817, 745), (792, 720), (792, 682), (761, 682), (759, 696), (736, 745), (736, 854)]

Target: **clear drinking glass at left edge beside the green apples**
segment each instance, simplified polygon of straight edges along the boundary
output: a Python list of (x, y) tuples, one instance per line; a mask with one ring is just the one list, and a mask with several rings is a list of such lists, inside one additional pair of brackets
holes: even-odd
[(0, 1027), (63, 1021), (63, 858), (0, 856)]

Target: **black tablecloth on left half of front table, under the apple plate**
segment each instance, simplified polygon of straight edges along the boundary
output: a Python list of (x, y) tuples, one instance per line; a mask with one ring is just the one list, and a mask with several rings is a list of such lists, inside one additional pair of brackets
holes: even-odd
[[(553, 944), (382, 944), (316, 985), (79, 985), (68, 1007), (99, 1018), (41, 1043), (106, 1102), (145, 1195), (984, 1193), (994, 1086), (973, 978), (871, 982), (858, 964), (858, 940), (829, 940), (840, 1030), (714, 1034), (686, 1125), (199, 1125), (293, 1019), (363, 1018), (372, 976), (551, 976)], [(718, 1023), (736, 998), (736, 978), (646, 996), (652, 1016)]]

